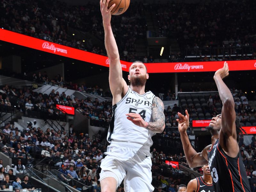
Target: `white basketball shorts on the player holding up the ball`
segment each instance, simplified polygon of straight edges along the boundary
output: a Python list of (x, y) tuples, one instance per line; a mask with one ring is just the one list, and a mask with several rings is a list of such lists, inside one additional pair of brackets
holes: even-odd
[(152, 192), (151, 154), (148, 146), (111, 141), (101, 160), (100, 180), (113, 177), (118, 187), (124, 180), (125, 192)]

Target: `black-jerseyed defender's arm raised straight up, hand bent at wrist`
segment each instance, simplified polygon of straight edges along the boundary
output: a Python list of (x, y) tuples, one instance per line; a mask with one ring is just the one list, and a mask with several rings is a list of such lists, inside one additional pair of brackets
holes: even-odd
[(221, 130), (219, 143), (229, 156), (235, 157), (239, 151), (239, 147), (236, 142), (235, 102), (230, 90), (222, 80), (228, 76), (228, 72), (228, 63), (225, 61), (223, 68), (215, 72), (213, 79), (217, 85), (220, 99), (223, 105), (221, 111)]

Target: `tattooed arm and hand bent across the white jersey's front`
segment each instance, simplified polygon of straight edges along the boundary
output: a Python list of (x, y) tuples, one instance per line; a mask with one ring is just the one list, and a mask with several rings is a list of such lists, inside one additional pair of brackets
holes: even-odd
[(164, 103), (159, 97), (152, 101), (152, 118), (153, 122), (145, 122), (140, 114), (128, 113), (127, 119), (137, 126), (144, 127), (154, 133), (162, 133), (165, 128)]

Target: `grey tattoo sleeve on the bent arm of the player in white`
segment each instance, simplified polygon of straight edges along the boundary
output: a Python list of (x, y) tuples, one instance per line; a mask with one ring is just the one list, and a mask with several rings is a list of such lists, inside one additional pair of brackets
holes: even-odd
[(161, 133), (164, 131), (164, 104), (159, 97), (155, 97), (152, 103), (152, 117), (153, 122), (148, 122), (148, 127), (150, 131), (154, 133)]

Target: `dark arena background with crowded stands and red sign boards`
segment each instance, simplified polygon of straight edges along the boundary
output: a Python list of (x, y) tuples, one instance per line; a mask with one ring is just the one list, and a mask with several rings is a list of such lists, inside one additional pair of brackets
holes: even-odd
[[(96, 170), (113, 112), (99, 3), (0, 0), (1, 189), (100, 191)], [(197, 152), (210, 144), (205, 127), (222, 108), (213, 76), (224, 61), (256, 191), (255, 7), (253, 0), (131, 0), (125, 13), (112, 16), (125, 81), (131, 63), (142, 61), (146, 90), (164, 103), (165, 130), (150, 149), (155, 191), (178, 191), (202, 175), (201, 167), (188, 167), (176, 118), (188, 110)]]

